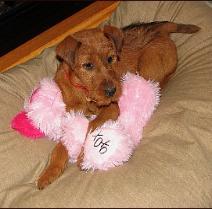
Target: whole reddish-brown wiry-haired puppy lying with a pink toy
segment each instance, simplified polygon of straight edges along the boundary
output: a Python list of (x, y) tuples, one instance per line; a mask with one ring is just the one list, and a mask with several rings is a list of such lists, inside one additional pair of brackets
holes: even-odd
[[(127, 71), (139, 73), (163, 87), (177, 65), (176, 46), (170, 33), (195, 33), (199, 29), (194, 25), (153, 22), (122, 29), (105, 26), (103, 30), (84, 30), (67, 37), (56, 48), (61, 64), (55, 76), (66, 110), (82, 111), (87, 117), (96, 115), (88, 131), (109, 119), (116, 120), (121, 77)], [(79, 166), (82, 159), (83, 149)], [(67, 162), (67, 150), (59, 143), (38, 179), (38, 188), (43, 189), (58, 178)]]

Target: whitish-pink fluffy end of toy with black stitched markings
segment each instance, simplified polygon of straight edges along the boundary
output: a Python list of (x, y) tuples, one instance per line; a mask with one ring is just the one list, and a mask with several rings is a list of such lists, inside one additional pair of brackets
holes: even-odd
[(128, 161), (133, 151), (130, 135), (118, 123), (108, 121), (88, 135), (84, 149), (84, 170), (108, 170)]

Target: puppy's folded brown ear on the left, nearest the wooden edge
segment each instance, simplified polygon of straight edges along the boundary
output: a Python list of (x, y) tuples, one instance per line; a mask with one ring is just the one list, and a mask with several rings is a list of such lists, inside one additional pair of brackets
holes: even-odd
[(81, 43), (79, 41), (71, 36), (68, 36), (57, 45), (56, 55), (60, 60), (65, 61), (67, 64), (73, 67), (75, 54), (80, 45)]

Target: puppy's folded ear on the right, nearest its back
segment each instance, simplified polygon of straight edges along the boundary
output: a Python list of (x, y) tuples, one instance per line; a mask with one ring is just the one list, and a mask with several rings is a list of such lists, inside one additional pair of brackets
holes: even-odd
[(106, 25), (104, 26), (103, 33), (107, 38), (113, 41), (116, 47), (117, 55), (120, 55), (124, 40), (124, 34), (122, 30), (114, 26)]

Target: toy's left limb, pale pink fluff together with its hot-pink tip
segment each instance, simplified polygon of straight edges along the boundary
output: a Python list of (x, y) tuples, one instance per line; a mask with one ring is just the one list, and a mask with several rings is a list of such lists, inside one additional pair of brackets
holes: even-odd
[(63, 135), (61, 121), (65, 104), (53, 79), (44, 78), (25, 100), (24, 111), (12, 120), (12, 128), (24, 136), (36, 139), (48, 136), (58, 140)]

